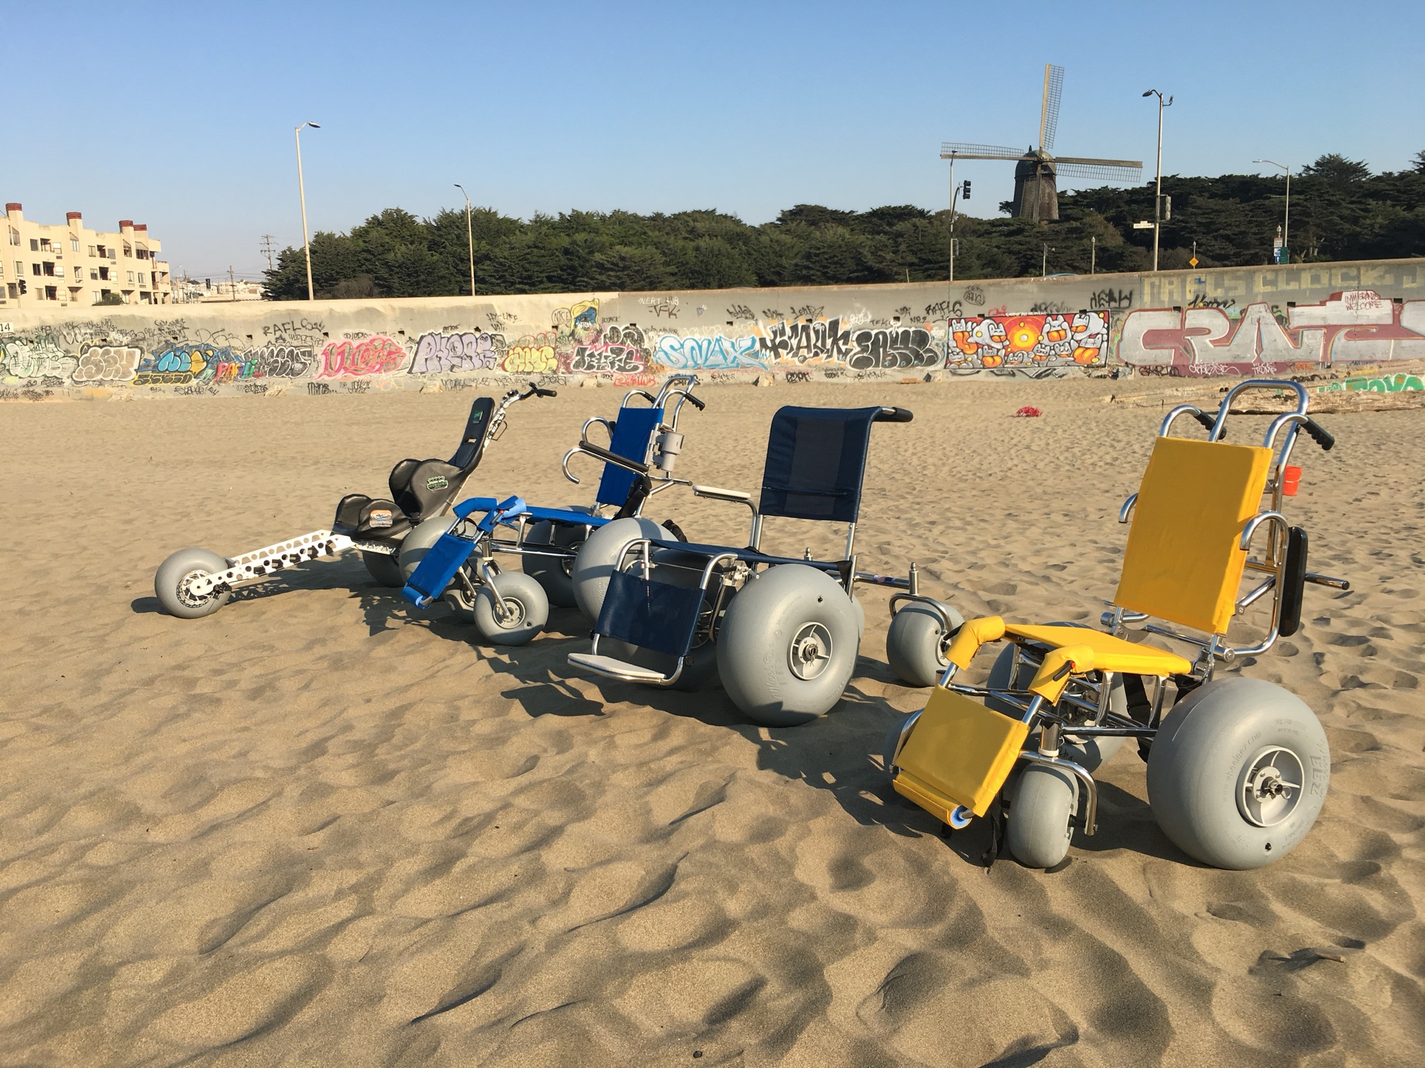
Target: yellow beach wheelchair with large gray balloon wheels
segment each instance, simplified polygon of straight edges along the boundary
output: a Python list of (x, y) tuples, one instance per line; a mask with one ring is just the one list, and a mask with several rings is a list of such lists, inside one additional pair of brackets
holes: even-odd
[[(1264, 389), (1294, 393), (1294, 406), (1271, 420), (1261, 446), (1228, 444), (1233, 402)], [(1248, 380), (1227, 392), (1216, 417), (1190, 404), (1168, 412), (1119, 517), (1131, 527), (1104, 629), (965, 622), (925, 709), (888, 739), (895, 790), (949, 827), (993, 817), (989, 860), (1003, 834), (1022, 864), (1052, 869), (1074, 827), (1094, 833), (1093, 772), (1131, 738), (1147, 760), (1153, 816), (1184, 853), (1223, 869), (1290, 853), (1327, 795), (1325, 732), (1290, 691), (1214, 669), (1294, 634), (1305, 584), (1349, 590), (1307, 571), (1307, 533), (1282, 515), (1300, 478), (1290, 466), (1298, 431), (1324, 450), (1334, 444), (1307, 400), (1300, 383)], [(1207, 440), (1173, 436), (1181, 416), (1207, 427)], [(1263, 600), (1265, 637), (1230, 645), (1234, 615)], [(1150, 635), (1186, 652), (1150, 645)], [(1007, 645), (985, 685), (956, 681), (980, 646), (999, 641)]]

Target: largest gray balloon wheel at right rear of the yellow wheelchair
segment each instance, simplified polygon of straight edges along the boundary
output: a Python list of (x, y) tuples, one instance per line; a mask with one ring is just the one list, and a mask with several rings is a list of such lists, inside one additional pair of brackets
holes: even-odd
[(1264, 679), (1208, 682), (1167, 715), (1149, 755), (1149, 805), (1190, 857), (1226, 869), (1281, 860), (1317, 822), (1331, 780), (1320, 721)]

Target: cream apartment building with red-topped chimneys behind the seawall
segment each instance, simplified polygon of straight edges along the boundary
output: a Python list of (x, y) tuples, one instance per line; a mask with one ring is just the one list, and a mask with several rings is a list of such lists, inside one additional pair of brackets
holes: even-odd
[(171, 299), (162, 245), (148, 226), (121, 219), (118, 231), (88, 229), (77, 211), (63, 226), (30, 222), (4, 205), (0, 234), (0, 309), (70, 305), (165, 305)]

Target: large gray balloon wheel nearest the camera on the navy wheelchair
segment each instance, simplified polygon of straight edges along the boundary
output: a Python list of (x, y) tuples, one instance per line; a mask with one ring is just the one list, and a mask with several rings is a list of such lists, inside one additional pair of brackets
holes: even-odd
[(765, 726), (792, 726), (841, 701), (856, 666), (856, 609), (826, 572), (782, 564), (732, 598), (717, 665), (732, 703)]

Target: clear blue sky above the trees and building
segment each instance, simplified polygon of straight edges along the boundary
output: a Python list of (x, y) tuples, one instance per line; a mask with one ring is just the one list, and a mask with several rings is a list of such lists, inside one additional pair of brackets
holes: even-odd
[[(1163, 169), (1401, 169), (1425, 148), (1425, 3), (19, 3), (3, 9), (0, 197), (27, 218), (147, 222), (174, 268), (256, 276), (262, 234), (399, 205), (940, 208), (942, 140), (1037, 140)], [(960, 164), (995, 215), (1012, 165)]]

